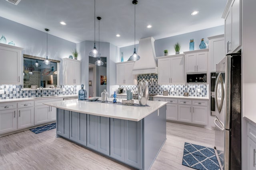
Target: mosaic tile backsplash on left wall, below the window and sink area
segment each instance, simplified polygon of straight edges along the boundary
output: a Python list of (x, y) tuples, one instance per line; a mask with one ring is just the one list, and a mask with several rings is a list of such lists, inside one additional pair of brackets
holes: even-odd
[[(65, 88), (65, 91), (62, 91)], [(59, 89), (44, 89), (44, 96), (59, 96), (76, 94), (76, 86), (62, 85)], [(22, 89), (22, 85), (0, 85), (0, 90), (4, 90), (4, 94), (0, 94), (0, 100), (15, 98), (33, 98), (40, 97), (41, 93), (38, 89)]]

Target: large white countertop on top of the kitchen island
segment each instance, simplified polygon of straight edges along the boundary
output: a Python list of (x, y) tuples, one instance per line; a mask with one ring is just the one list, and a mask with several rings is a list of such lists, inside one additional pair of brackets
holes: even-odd
[[(113, 98), (109, 98), (109, 101), (112, 101), (112, 99)], [(122, 102), (122, 99), (117, 99), (117, 102)], [(139, 101), (134, 100), (134, 103), (139, 104)], [(64, 110), (76, 111), (79, 113), (86, 113), (91, 115), (111, 117), (130, 121), (140, 121), (150, 113), (166, 105), (167, 102), (148, 101), (147, 104), (149, 106), (144, 107), (108, 104), (101, 102), (89, 102), (77, 99), (64, 100), (59, 102), (46, 102), (43, 104)]]

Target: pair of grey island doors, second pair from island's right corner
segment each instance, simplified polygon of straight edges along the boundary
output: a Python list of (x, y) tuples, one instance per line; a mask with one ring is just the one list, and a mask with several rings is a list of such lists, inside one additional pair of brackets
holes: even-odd
[(87, 147), (110, 154), (110, 118), (87, 115)]

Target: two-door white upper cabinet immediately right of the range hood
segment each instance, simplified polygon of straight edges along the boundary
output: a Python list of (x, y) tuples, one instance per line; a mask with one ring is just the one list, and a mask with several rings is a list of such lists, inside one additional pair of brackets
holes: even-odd
[(157, 57), (158, 84), (184, 84), (185, 83), (185, 56), (171, 55)]

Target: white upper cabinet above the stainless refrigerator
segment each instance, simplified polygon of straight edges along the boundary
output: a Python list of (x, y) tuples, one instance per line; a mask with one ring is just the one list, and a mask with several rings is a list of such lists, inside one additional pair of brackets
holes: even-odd
[(234, 53), (242, 42), (240, 0), (228, 0), (222, 18), (225, 19), (225, 54)]

